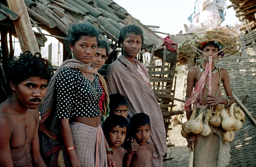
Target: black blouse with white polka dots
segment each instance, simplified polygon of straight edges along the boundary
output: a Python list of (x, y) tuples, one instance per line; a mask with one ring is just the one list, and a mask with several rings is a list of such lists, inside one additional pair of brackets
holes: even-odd
[(58, 118), (100, 116), (99, 100), (103, 92), (98, 75), (93, 75), (92, 83), (78, 69), (65, 67), (59, 72), (55, 82)]

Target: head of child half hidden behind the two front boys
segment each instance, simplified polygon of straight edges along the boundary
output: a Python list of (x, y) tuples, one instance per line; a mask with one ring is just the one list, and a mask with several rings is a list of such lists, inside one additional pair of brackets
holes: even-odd
[(109, 115), (121, 115), (127, 118), (128, 115), (128, 102), (125, 97), (119, 93), (109, 96)]

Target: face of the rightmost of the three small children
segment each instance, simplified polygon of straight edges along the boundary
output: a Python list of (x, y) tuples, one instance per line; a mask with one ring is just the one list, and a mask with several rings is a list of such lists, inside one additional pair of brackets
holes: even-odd
[(139, 126), (135, 131), (137, 143), (146, 143), (150, 136), (149, 125)]

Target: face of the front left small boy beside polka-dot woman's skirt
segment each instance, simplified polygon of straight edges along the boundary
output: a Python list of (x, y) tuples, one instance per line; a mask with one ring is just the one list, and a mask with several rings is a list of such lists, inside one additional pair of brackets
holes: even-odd
[(109, 141), (112, 146), (120, 146), (123, 144), (126, 135), (126, 127), (115, 126), (109, 131)]

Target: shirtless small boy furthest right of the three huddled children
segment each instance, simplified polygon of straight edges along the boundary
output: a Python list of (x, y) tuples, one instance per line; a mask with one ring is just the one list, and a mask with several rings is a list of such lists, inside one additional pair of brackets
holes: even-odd
[(131, 133), (139, 147), (125, 155), (126, 167), (152, 167), (154, 146), (146, 143), (150, 136), (150, 119), (145, 113), (135, 114), (130, 120)]

